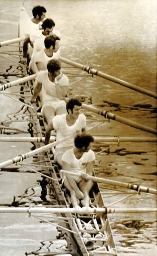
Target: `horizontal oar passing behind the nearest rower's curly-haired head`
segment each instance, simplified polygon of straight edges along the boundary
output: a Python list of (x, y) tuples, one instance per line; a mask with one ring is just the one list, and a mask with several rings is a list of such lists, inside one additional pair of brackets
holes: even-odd
[[(4, 128), (4, 127), (3, 127)], [(157, 137), (99, 137), (93, 136), (95, 142), (157, 142)], [(50, 137), (50, 142), (55, 141), (55, 136)], [(0, 142), (45, 142), (44, 137), (0, 137)]]

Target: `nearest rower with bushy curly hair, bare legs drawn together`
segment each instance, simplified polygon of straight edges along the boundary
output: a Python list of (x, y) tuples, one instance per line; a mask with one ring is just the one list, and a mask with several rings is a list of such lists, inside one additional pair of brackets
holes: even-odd
[(93, 137), (89, 134), (77, 135), (74, 139), (74, 149), (66, 151), (62, 155), (62, 166), (64, 170), (70, 171), (65, 175), (64, 186), (70, 191), (71, 203), (74, 207), (79, 207), (79, 200), (82, 206), (90, 206), (89, 191), (92, 188), (92, 180), (87, 180), (73, 176), (73, 172), (79, 174), (90, 174), (93, 172), (93, 162), (95, 154), (91, 150)]

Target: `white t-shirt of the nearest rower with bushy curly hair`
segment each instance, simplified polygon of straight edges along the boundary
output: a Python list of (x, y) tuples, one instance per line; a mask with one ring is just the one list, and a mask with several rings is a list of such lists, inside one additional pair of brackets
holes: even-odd
[(61, 160), (70, 165), (71, 172), (77, 172), (77, 174), (86, 173), (87, 163), (92, 162), (96, 159), (94, 152), (90, 149), (88, 152), (84, 152), (80, 159), (77, 159), (74, 155), (74, 149), (65, 151), (62, 155)]

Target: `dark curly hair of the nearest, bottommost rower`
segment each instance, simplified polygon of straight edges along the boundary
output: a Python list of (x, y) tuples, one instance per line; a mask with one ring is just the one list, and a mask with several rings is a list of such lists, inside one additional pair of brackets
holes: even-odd
[(79, 134), (74, 139), (74, 145), (77, 148), (82, 148), (83, 146), (87, 149), (89, 144), (94, 142), (94, 138), (90, 134)]

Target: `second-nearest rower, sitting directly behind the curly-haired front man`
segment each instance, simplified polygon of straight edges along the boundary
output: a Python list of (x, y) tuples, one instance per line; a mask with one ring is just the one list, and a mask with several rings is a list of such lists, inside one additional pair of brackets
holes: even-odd
[[(55, 116), (46, 128), (45, 145), (49, 143), (51, 131), (55, 129), (57, 132), (54, 160), (61, 167), (63, 153), (74, 148), (74, 137), (86, 130), (86, 117), (84, 114), (80, 114), (81, 105), (80, 101), (70, 99), (66, 104), (67, 113)], [(60, 142), (61, 140), (64, 141)]]

